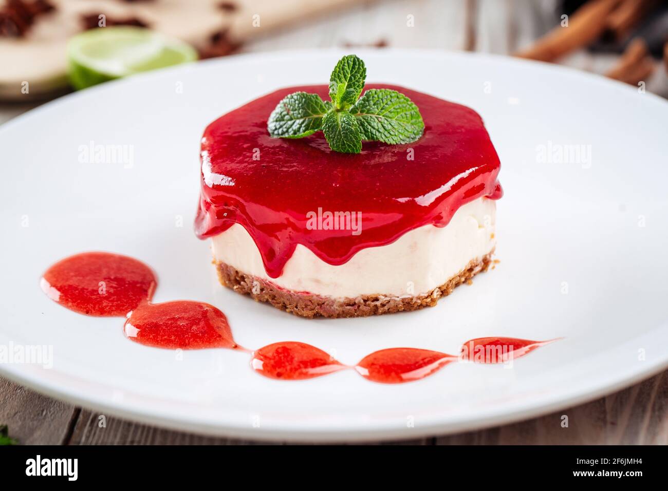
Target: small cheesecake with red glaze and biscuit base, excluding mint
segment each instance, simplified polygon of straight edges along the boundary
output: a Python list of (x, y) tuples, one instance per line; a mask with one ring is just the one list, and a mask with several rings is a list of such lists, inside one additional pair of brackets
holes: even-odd
[(212, 122), (201, 142), (196, 234), (220, 282), (303, 317), (358, 317), (436, 305), (486, 271), (500, 162), (474, 110), (388, 85), (420, 108), (411, 144), (333, 152), (322, 134), (271, 138), (278, 90)]

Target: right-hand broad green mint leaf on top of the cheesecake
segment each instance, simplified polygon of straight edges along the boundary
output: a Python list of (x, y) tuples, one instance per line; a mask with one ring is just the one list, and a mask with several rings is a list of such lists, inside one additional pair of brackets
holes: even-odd
[(369, 89), (350, 110), (363, 140), (410, 143), (424, 132), (418, 106), (396, 90)]

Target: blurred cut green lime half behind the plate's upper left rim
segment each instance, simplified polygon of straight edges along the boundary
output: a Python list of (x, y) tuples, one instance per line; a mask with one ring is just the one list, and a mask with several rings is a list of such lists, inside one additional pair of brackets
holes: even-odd
[(67, 43), (69, 81), (77, 90), (196, 59), (189, 44), (142, 27), (99, 27)]

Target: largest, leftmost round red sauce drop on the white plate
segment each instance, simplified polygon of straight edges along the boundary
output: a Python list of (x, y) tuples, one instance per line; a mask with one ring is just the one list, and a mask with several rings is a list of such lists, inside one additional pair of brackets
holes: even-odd
[(40, 281), (49, 298), (75, 312), (123, 317), (148, 301), (156, 277), (144, 263), (112, 253), (81, 253), (51, 266)]

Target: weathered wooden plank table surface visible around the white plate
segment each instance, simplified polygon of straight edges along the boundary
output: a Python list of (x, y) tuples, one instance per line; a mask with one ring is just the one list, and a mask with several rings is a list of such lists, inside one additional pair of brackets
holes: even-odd
[[(554, 7), (552, 3), (552, 7)], [(409, 15), (414, 27), (407, 26)], [(246, 43), (243, 52), (296, 47), (469, 49), (507, 54), (555, 25), (550, 2), (533, 0), (360, 1), (358, 7), (298, 21)], [(573, 53), (562, 63), (602, 73), (614, 55)], [(648, 90), (665, 90), (665, 75)], [(35, 104), (0, 104), (0, 123)], [(583, 373), (582, 376), (587, 376)], [(562, 416), (568, 428), (562, 428)], [(100, 416), (106, 426), (101, 427)], [(174, 432), (75, 407), (0, 377), (0, 426), (21, 444), (258, 444)], [(373, 442), (369, 442), (373, 443)], [(668, 371), (587, 404), (516, 424), (401, 444), (668, 444)]]

